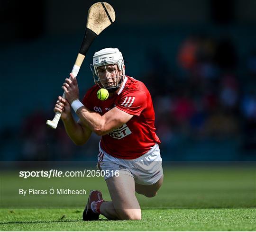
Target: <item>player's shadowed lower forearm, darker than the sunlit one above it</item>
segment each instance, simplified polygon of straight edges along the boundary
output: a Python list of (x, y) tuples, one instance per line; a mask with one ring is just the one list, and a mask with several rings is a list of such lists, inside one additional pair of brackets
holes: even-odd
[(85, 131), (79, 123), (74, 121), (73, 116), (63, 120), (63, 123), (66, 133), (76, 145), (82, 145), (90, 138), (91, 131)]

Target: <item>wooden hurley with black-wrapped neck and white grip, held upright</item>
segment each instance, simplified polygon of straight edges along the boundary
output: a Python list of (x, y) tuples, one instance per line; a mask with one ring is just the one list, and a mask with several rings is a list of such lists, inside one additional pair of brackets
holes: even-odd
[[(81, 48), (77, 55), (72, 74), (76, 77), (93, 40), (109, 27), (116, 19), (115, 11), (107, 2), (94, 3), (88, 10), (86, 29), (82, 41)], [(65, 98), (65, 93), (62, 96)], [(61, 113), (56, 112), (53, 120), (47, 120), (46, 124), (52, 128), (56, 128), (60, 120)]]

